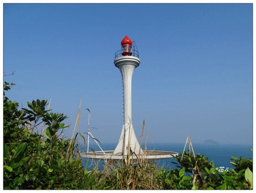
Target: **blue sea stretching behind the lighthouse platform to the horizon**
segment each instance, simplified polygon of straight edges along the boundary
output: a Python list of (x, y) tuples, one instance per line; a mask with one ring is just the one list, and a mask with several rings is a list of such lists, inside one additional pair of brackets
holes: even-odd
[[(114, 150), (116, 144), (106, 143), (102, 144), (102, 150)], [(177, 153), (183, 153), (185, 143), (147, 143), (147, 150), (160, 150), (160, 151), (172, 151)], [(200, 153), (204, 157), (208, 158), (208, 161), (214, 162), (214, 167), (224, 167), (225, 170), (229, 168), (235, 168), (230, 161), (232, 161), (232, 156), (240, 158), (253, 158), (253, 153), (250, 148), (253, 148), (252, 144), (192, 144), (195, 154)], [(100, 149), (96, 147), (95, 144), (91, 144), (91, 149), (99, 151)], [(144, 149), (144, 147), (142, 146)], [(186, 150), (189, 150), (189, 143), (186, 144)], [(81, 151), (83, 152), (83, 151)], [(157, 167), (165, 168), (170, 170), (170, 168), (175, 168), (176, 164), (174, 158), (167, 158), (156, 161)], [(82, 158), (82, 163), (84, 167), (88, 170), (93, 168), (98, 161), (91, 161), (91, 159)], [(99, 161), (98, 169), (104, 167), (104, 161)]]

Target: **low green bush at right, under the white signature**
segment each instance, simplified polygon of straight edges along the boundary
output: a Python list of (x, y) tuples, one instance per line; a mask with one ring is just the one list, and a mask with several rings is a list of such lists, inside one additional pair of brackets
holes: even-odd
[[(252, 159), (234, 158), (236, 168), (228, 171), (219, 172), (214, 167), (213, 161), (208, 162), (208, 158), (198, 154), (195, 156), (185, 151), (183, 158), (181, 154), (176, 158), (177, 168), (184, 170), (190, 179), (190, 185), (177, 187), (177, 189), (201, 189), (201, 190), (246, 190), (252, 189)], [(175, 163), (175, 162), (174, 162)], [(188, 181), (186, 181), (188, 183)]]

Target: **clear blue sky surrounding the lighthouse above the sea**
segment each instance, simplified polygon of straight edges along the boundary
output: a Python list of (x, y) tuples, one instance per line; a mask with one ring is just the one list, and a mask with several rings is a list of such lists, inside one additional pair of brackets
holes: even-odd
[[(11, 100), (52, 98), (69, 118), (81, 108), (101, 142), (119, 140), (122, 78), (114, 54), (125, 35), (140, 66), (132, 85), (133, 124), (148, 142), (212, 139), (251, 144), (252, 4), (4, 4), (4, 81)], [(87, 112), (79, 131), (87, 130)], [(100, 131), (104, 130), (104, 131)]]

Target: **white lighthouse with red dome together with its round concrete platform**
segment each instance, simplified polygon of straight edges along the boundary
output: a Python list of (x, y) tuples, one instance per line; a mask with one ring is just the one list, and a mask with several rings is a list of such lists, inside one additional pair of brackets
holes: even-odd
[[(131, 116), (131, 81), (134, 69), (140, 65), (139, 52), (132, 49), (132, 40), (126, 35), (121, 41), (122, 49), (115, 54), (114, 64), (119, 68), (123, 81), (123, 101), (124, 101), (124, 124), (121, 136), (115, 150), (102, 150), (80, 153), (81, 157), (105, 160), (123, 160), (127, 155), (132, 155), (132, 159), (143, 158), (149, 160), (173, 158), (178, 155), (176, 152), (159, 150), (142, 150), (134, 133)], [(89, 128), (89, 126), (88, 126)], [(88, 132), (91, 138), (93, 136)], [(97, 141), (96, 141), (97, 143)], [(98, 143), (97, 143), (98, 144)], [(87, 147), (88, 150), (88, 147)]]

